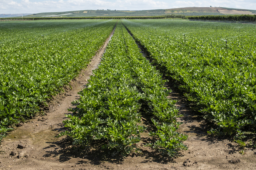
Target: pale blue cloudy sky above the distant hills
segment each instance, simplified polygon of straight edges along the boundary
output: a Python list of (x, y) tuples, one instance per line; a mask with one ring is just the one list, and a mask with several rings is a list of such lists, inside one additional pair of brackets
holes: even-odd
[(0, 14), (64, 12), (87, 9), (145, 10), (210, 6), (256, 10), (256, 0), (0, 0)]

